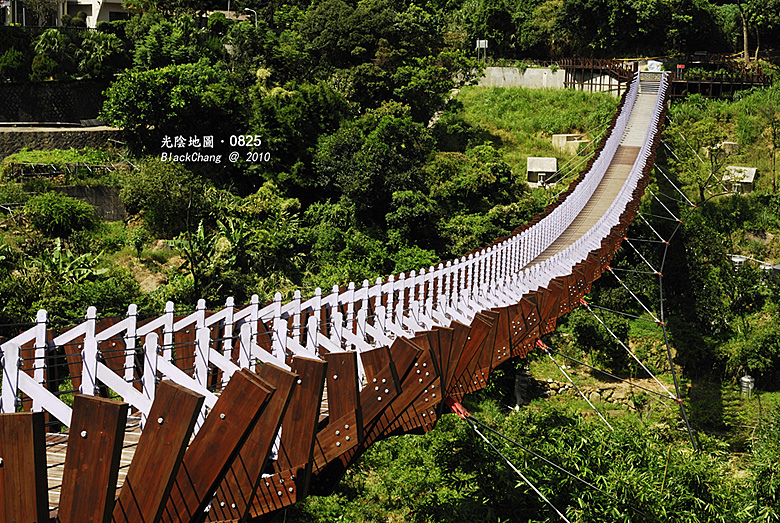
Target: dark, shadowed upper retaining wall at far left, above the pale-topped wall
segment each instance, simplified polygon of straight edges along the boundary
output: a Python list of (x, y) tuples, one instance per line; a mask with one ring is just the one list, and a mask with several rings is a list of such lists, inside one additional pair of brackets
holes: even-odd
[(0, 83), (0, 122), (70, 122), (97, 118), (106, 80)]

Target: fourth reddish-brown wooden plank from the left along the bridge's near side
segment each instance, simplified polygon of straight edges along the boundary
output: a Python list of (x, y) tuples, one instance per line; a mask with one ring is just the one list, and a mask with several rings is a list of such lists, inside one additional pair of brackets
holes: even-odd
[(217, 485), (275, 395), (272, 387), (250, 371), (233, 374), (184, 454), (162, 521), (205, 519), (204, 510), (212, 502)]

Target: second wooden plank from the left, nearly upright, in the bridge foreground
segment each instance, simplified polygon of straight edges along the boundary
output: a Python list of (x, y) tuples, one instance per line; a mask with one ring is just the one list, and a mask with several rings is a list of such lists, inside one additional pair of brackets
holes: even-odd
[(111, 520), (127, 409), (127, 403), (74, 395), (62, 472), (61, 523)]

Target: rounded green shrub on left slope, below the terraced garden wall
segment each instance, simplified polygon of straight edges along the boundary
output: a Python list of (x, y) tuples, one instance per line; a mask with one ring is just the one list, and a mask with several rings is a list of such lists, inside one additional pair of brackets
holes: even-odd
[(98, 223), (93, 207), (58, 192), (33, 196), (24, 204), (24, 214), (42, 234), (67, 236), (73, 231), (92, 229)]

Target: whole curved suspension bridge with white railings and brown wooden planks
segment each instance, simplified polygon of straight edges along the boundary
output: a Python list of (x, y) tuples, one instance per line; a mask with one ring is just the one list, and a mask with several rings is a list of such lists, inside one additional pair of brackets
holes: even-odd
[(637, 74), (583, 174), (466, 257), (267, 306), (168, 303), (147, 320), (131, 306), (121, 321), (90, 308), (63, 332), (40, 311), (0, 346), (0, 520), (251, 520), (333, 485), (377, 440), (430, 430), (606, 270), (667, 90), (662, 73)]

